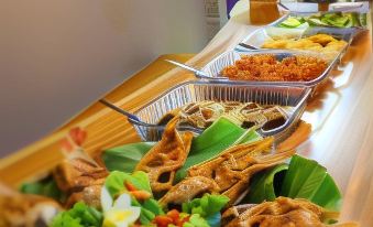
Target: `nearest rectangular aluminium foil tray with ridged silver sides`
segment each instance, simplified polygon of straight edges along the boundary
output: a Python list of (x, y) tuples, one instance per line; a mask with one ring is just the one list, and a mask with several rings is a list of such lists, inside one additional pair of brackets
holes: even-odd
[[(311, 93), (307, 87), (268, 86), (242, 83), (194, 80), (177, 85), (134, 112), (146, 123), (157, 123), (168, 111), (190, 102), (202, 100), (256, 102), (260, 105), (286, 106), (286, 122), (276, 129), (259, 132), (282, 140), (293, 131), (306, 107)], [(161, 140), (163, 129), (132, 122), (144, 141)]]

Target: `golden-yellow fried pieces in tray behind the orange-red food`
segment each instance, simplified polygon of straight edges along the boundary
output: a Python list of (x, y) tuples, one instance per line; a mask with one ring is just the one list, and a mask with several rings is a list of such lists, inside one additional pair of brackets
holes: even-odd
[(262, 45), (263, 48), (290, 48), (307, 50), (321, 53), (328, 61), (333, 61), (338, 54), (347, 46), (343, 40), (336, 40), (328, 34), (316, 34), (299, 40), (267, 40)]

